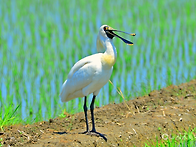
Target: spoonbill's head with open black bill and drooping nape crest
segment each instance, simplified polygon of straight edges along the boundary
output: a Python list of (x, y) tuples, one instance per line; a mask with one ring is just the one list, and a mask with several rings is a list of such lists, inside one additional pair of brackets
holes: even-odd
[(116, 29), (113, 29), (112, 27), (108, 26), (108, 25), (102, 25), (99, 29), (99, 34), (97, 36), (97, 51), (98, 52), (104, 52), (104, 45), (103, 45), (103, 40), (106, 39), (113, 39), (113, 37), (118, 37), (120, 38), (124, 43), (126, 43), (127, 45), (133, 45), (133, 43), (131, 41), (128, 41), (122, 37), (120, 37), (119, 35), (115, 34), (114, 32), (121, 32), (121, 33), (125, 33), (131, 36), (135, 36), (135, 33), (127, 33), (127, 32), (123, 32), (123, 31), (119, 31)]

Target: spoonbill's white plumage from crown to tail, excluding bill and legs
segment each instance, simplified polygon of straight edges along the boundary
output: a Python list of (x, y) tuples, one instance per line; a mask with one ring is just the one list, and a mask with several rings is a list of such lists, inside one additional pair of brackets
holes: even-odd
[(116, 61), (116, 48), (112, 39), (107, 37), (104, 27), (106, 25), (101, 26), (98, 38), (106, 49), (105, 53), (87, 56), (72, 67), (62, 86), (60, 94), (62, 102), (91, 93), (97, 96), (100, 89), (108, 82), (112, 74), (112, 66)]

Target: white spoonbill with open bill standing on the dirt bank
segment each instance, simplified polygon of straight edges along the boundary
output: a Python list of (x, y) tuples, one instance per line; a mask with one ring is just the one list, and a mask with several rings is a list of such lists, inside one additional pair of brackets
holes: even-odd
[[(133, 45), (114, 32), (121, 32), (135, 36), (127, 32), (113, 29), (108, 25), (102, 25), (97, 36), (97, 52), (96, 54), (84, 57), (74, 64), (71, 68), (67, 79), (62, 85), (60, 98), (62, 102), (67, 102), (75, 98), (84, 97), (84, 115), (86, 122), (86, 131), (82, 134), (96, 135), (102, 137), (105, 141), (107, 138), (105, 134), (101, 134), (95, 129), (94, 121), (94, 103), (100, 89), (109, 81), (113, 71), (113, 65), (117, 59), (117, 51), (113, 44), (113, 37), (120, 38), (127, 45)], [(87, 96), (93, 93), (93, 98), (90, 104), (92, 130), (89, 131), (87, 118)]]

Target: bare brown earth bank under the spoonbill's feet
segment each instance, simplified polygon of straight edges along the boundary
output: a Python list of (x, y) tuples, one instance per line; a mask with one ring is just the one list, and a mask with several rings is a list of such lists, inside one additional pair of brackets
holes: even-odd
[(32, 125), (9, 126), (0, 138), (4, 146), (143, 146), (196, 127), (196, 80), (95, 108), (95, 124), (107, 142), (78, 134), (86, 129), (83, 112)]

